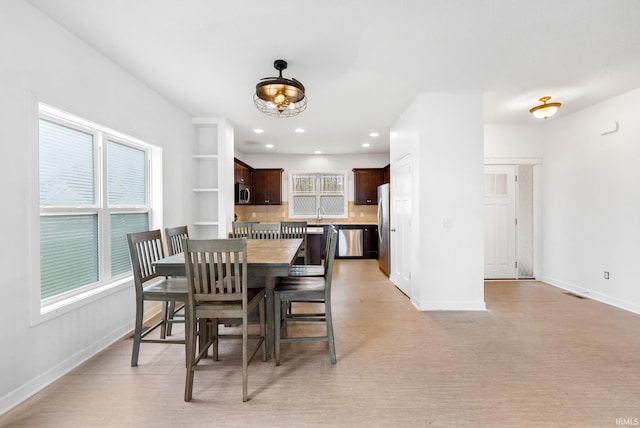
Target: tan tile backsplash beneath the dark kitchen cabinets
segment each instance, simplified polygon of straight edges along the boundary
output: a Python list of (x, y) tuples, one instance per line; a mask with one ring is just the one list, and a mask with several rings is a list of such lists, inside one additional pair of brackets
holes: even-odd
[[(235, 213), (238, 221), (259, 221), (262, 223), (277, 223), (289, 220), (289, 203), (283, 201), (282, 205), (236, 205)], [(304, 220), (304, 219), (295, 219)], [(309, 223), (315, 223), (316, 218), (306, 219)], [(377, 205), (354, 205), (349, 201), (349, 218), (323, 219), (323, 223), (376, 223), (378, 220)]]

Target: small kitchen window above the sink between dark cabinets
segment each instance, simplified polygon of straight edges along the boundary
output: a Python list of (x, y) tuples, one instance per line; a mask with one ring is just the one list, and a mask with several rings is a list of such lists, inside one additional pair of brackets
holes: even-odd
[(291, 173), (290, 218), (345, 218), (345, 173)]

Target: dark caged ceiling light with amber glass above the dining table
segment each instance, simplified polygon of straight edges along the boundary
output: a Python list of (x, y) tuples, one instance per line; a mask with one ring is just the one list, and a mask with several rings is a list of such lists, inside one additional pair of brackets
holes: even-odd
[(253, 95), (256, 107), (264, 114), (274, 117), (291, 117), (302, 113), (307, 108), (304, 86), (294, 78), (282, 77), (282, 70), (287, 68), (285, 60), (275, 60), (273, 67), (280, 75), (260, 79)]

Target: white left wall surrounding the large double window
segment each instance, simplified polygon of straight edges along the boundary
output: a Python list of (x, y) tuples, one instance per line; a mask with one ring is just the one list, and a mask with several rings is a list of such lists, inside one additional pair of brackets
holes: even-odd
[(181, 174), (191, 160), (185, 147), (194, 144), (190, 117), (28, 3), (0, 2), (0, 413), (133, 328), (133, 285), (31, 325), (29, 213), (38, 210), (29, 204), (38, 192), (29, 174), (31, 98), (161, 146), (164, 222), (190, 218), (190, 195), (180, 196), (191, 187)]

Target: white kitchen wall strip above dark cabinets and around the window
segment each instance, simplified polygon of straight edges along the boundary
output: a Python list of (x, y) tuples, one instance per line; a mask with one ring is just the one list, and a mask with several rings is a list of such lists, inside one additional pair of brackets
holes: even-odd
[(349, 200), (353, 201), (353, 168), (383, 168), (389, 164), (388, 154), (362, 155), (245, 155), (236, 153), (253, 168), (283, 168), (282, 199), (288, 200), (289, 172), (347, 172)]

